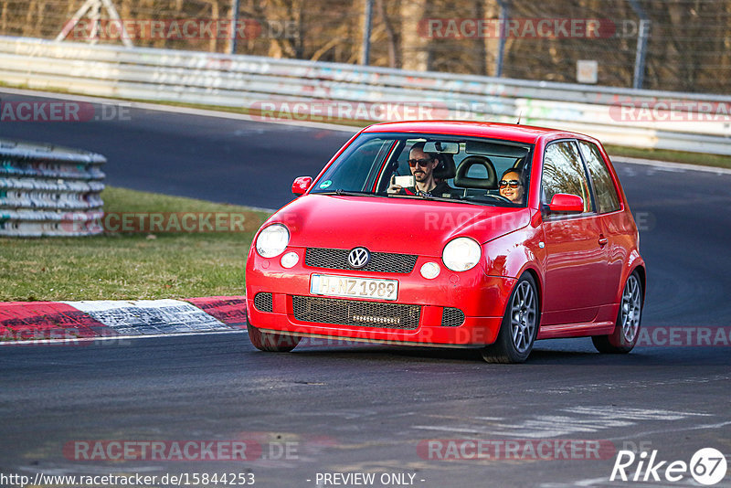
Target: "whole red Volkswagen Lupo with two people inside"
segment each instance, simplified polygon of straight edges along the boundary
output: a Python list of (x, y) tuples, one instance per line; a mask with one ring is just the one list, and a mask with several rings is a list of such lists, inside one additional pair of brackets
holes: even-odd
[(480, 347), (516, 363), (536, 339), (637, 341), (639, 235), (599, 141), (480, 122), (357, 133), (257, 233), (249, 339)]

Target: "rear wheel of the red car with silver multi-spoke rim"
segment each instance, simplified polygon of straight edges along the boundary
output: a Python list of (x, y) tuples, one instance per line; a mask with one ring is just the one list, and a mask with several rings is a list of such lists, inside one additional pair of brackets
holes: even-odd
[(642, 281), (637, 271), (632, 272), (622, 291), (620, 311), (614, 331), (609, 335), (595, 335), (591, 338), (600, 353), (627, 354), (640, 336), (642, 315)]

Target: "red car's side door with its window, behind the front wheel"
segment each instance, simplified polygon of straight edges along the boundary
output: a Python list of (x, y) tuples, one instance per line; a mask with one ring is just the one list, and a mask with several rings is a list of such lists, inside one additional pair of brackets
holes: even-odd
[(584, 201), (584, 211), (579, 214), (544, 214), (542, 325), (592, 322), (606, 291), (607, 246), (575, 140), (546, 146), (541, 190), (544, 208), (557, 193), (581, 196)]

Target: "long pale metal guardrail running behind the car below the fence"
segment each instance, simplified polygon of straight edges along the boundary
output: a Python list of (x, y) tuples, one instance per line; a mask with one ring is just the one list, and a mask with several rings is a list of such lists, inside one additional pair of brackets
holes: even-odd
[[(526, 124), (590, 133), (605, 143), (731, 154), (727, 96), (21, 37), (0, 37), (0, 81), (31, 89), (242, 109), (272, 102), (431, 104), (439, 118), (515, 122), (520, 117)], [(353, 111), (352, 118), (373, 120), (372, 112), (364, 112), (359, 116)], [(381, 120), (393, 120), (399, 113), (403, 111), (390, 111)]]

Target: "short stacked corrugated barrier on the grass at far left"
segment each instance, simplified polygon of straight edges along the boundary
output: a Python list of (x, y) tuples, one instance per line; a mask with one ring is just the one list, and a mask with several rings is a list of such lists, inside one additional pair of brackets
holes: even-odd
[(88, 236), (103, 216), (101, 164), (76, 149), (0, 139), (0, 236)]

